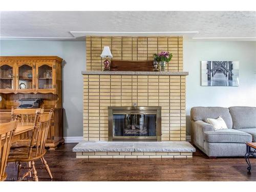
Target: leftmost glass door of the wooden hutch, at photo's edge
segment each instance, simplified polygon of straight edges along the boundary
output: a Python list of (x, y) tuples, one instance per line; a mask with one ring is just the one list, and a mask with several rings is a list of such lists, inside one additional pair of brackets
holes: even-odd
[(14, 90), (14, 63), (0, 64), (0, 90)]

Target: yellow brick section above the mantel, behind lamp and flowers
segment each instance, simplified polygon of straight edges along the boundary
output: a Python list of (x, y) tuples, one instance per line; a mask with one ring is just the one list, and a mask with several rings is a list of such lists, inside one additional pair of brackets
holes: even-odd
[(169, 51), (172, 60), (166, 63), (166, 71), (183, 71), (183, 37), (86, 37), (87, 71), (103, 71), (104, 59), (100, 54), (104, 46), (109, 46), (116, 60), (154, 60), (153, 54)]

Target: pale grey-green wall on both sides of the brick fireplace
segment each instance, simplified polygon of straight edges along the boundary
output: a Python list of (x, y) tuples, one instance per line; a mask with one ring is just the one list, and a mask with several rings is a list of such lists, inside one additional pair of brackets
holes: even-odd
[[(193, 106), (256, 106), (256, 42), (184, 41), (187, 135)], [(86, 69), (84, 41), (0, 41), (0, 55), (57, 55), (63, 65), (64, 136), (82, 136), (82, 75)], [(201, 60), (239, 61), (239, 87), (201, 87)]]

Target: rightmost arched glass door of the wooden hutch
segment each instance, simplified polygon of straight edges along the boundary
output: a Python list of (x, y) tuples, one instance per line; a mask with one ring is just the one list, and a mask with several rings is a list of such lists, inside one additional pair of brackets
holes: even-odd
[(53, 90), (53, 63), (37, 63), (36, 78), (38, 90)]

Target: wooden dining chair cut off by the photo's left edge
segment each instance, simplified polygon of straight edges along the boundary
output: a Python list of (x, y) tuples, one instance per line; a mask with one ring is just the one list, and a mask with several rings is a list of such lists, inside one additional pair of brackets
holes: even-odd
[(7, 177), (5, 169), (10, 152), (11, 141), (17, 124), (17, 119), (9, 123), (0, 124), (0, 181), (4, 181)]

